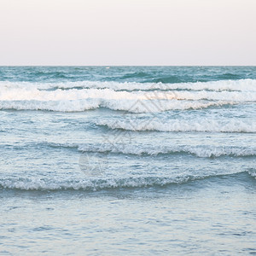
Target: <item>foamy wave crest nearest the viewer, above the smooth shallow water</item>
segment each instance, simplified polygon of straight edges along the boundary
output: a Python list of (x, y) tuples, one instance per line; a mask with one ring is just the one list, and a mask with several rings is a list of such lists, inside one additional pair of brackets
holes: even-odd
[(18, 189), (24, 191), (63, 191), (84, 190), (97, 191), (102, 189), (136, 189), (148, 187), (164, 187), (172, 184), (189, 183), (195, 180), (211, 177), (226, 177), (234, 174), (246, 173), (253, 178), (251, 172), (232, 172), (209, 175), (180, 175), (176, 177), (122, 177), (101, 178), (87, 177), (82, 179), (47, 179), (6, 177), (0, 179), (0, 189)]

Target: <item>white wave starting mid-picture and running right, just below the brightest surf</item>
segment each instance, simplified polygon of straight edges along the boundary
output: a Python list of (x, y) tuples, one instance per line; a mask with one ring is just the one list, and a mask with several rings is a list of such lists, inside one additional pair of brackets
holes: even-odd
[(251, 120), (245, 122), (239, 119), (209, 120), (193, 119), (128, 119), (128, 120), (100, 120), (96, 125), (107, 126), (110, 129), (126, 131), (198, 131), (198, 132), (256, 132), (256, 123)]

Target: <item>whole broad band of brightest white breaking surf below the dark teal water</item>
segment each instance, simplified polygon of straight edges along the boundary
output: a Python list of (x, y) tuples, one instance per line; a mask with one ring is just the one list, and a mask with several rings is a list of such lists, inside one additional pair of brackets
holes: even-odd
[[(65, 85), (2, 81), (0, 109), (78, 112), (110, 108), (132, 113), (150, 113), (256, 101), (256, 80), (251, 79), (167, 85), (89, 81), (78, 83), (80, 82), (69, 82)], [(70, 90), (61, 90), (63, 86)], [(123, 90), (125, 88), (127, 90)]]

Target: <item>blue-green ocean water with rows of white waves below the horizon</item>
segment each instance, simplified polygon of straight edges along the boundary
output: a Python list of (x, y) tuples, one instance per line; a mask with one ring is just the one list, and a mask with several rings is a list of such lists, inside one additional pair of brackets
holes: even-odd
[(0, 67), (0, 254), (256, 253), (256, 67)]

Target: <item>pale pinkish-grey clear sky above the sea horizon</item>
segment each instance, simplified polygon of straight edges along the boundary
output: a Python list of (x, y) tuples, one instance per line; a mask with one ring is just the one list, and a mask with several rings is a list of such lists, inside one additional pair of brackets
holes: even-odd
[(0, 0), (0, 65), (256, 65), (256, 0)]

